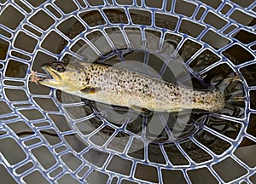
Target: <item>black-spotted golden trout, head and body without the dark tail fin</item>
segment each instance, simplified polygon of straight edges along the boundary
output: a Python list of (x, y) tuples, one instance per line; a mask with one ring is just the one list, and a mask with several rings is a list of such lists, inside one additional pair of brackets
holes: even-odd
[[(131, 69), (81, 62), (43, 66), (52, 78), (39, 83), (92, 101), (156, 112), (183, 109), (217, 111), (224, 107), (224, 93), (186, 89)], [(60, 69), (61, 68), (61, 69)]]

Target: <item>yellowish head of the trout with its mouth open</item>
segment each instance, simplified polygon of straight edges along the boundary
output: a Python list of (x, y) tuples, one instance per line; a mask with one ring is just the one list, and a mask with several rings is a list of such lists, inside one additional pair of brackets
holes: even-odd
[(72, 65), (67, 65), (63, 62), (51, 62), (42, 66), (44, 72), (49, 75), (49, 78), (44, 78), (38, 83), (64, 91), (73, 91), (80, 89), (79, 83), (75, 83), (77, 70)]

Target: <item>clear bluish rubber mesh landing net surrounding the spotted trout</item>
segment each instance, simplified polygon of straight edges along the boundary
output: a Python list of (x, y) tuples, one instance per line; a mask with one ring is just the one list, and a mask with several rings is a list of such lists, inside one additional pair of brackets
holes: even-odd
[[(3, 183), (256, 182), (255, 1), (1, 0), (0, 9)], [(137, 70), (197, 89), (236, 75), (226, 90), (240, 101), (187, 121), (137, 115), (31, 82), (55, 60), (137, 60)]]

